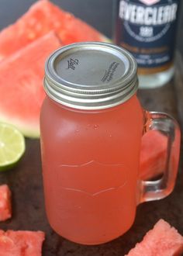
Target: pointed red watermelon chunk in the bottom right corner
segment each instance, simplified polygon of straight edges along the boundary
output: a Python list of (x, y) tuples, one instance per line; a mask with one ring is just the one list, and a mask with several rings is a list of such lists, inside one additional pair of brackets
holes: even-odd
[(126, 256), (180, 256), (181, 253), (183, 237), (166, 221), (159, 220)]

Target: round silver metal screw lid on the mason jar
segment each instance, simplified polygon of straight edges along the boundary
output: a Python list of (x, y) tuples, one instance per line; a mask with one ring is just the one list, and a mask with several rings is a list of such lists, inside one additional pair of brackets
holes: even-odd
[(110, 43), (74, 43), (47, 60), (47, 95), (75, 109), (106, 109), (126, 102), (138, 87), (136, 61)]

